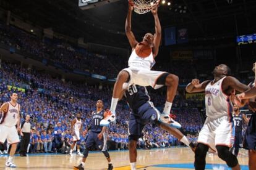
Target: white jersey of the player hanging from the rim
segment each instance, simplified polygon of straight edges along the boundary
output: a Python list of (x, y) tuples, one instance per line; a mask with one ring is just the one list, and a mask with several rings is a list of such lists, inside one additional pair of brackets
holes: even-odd
[(136, 70), (151, 70), (155, 63), (152, 52), (148, 57), (142, 58), (136, 54), (135, 49), (132, 51), (132, 54), (130, 54), (130, 58), (128, 60), (129, 67), (135, 68)]

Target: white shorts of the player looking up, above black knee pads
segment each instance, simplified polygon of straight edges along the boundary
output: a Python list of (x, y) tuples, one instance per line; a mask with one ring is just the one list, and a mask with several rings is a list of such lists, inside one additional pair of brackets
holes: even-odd
[(233, 123), (229, 122), (228, 116), (217, 119), (207, 118), (199, 133), (198, 143), (208, 145), (214, 152), (216, 152), (216, 145), (230, 148), (234, 144), (234, 132)]

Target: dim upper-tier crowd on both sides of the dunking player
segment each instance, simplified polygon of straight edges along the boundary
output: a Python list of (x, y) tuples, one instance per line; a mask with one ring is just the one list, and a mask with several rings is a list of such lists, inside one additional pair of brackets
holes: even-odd
[[(61, 40), (40, 39), (14, 26), (1, 23), (0, 39), (2, 44), (14, 47), (17, 52), (25, 52), (41, 60), (46, 59), (63, 69), (88, 71), (110, 79), (116, 78), (118, 72), (128, 65), (127, 56), (95, 54)], [(190, 61), (158, 61), (153, 69), (179, 75), (180, 83), (187, 83), (196, 76), (194, 65)]]

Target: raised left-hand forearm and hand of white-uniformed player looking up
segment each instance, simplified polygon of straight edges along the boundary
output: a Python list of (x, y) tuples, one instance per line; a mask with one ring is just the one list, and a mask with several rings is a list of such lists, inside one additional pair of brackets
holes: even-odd
[(187, 84), (186, 92), (203, 92), (205, 91), (205, 87), (210, 83), (210, 80), (203, 81), (200, 83), (199, 79), (192, 79), (191, 83)]

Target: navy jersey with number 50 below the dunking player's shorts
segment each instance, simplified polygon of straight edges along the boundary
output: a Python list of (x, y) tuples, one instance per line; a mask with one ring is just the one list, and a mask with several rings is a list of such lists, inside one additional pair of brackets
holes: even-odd
[(146, 87), (134, 84), (128, 87), (124, 96), (132, 111), (137, 111), (140, 106), (150, 101), (150, 96), (148, 95)]

